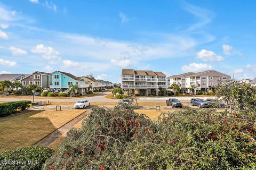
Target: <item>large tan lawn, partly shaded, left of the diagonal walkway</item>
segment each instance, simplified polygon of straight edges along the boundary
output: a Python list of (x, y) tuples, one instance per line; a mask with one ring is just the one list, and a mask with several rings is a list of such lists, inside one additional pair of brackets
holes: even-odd
[(34, 145), (84, 112), (84, 110), (25, 111), (19, 115), (0, 118), (0, 152)]

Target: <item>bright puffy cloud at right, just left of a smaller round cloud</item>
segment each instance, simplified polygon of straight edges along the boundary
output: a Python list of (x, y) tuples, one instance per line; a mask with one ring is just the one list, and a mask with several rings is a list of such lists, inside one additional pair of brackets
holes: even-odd
[(196, 53), (196, 57), (203, 60), (204, 62), (219, 62), (223, 61), (224, 58), (220, 55), (215, 54), (212, 51), (202, 49), (200, 52)]

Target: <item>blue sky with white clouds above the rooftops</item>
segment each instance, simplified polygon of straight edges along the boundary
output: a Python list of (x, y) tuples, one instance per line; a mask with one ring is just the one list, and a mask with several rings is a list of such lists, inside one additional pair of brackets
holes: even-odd
[(256, 77), (255, 1), (0, 1), (0, 73)]

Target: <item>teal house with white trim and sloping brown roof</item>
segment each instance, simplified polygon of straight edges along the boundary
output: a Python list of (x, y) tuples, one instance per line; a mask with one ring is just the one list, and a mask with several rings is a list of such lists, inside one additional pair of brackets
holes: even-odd
[(53, 92), (68, 92), (68, 87), (70, 84), (76, 84), (80, 92), (86, 91), (85, 88), (89, 87), (87, 84), (84, 84), (81, 77), (76, 77), (73, 74), (62, 71), (54, 71), (52, 73), (52, 86), (50, 86), (50, 88)]

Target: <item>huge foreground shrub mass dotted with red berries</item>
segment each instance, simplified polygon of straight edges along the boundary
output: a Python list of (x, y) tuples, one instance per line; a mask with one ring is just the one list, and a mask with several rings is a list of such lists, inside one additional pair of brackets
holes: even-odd
[(254, 120), (183, 109), (152, 122), (129, 105), (93, 108), (43, 169), (253, 169)]

